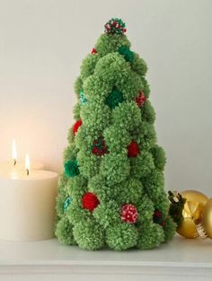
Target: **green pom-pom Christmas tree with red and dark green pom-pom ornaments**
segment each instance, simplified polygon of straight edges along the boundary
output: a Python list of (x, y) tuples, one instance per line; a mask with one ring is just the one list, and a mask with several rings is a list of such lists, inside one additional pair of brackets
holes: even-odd
[(58, 186), (56, 235), (87, 250), (146, 250), (175, 233), (147, 66), (125, 32), (121, 20), (107, 22), (75, 82), (78, 101)]

